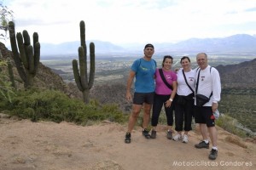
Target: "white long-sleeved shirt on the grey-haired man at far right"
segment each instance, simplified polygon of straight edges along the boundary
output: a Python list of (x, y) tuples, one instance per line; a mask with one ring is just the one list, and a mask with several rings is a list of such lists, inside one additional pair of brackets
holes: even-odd
[[(199, 84), (197, 89), (197, 94), (203, 94), (209, 97), (212, 93), (212, 97), (209, 102), (207, 102), (204, 106), (212, 106), (213, 103), (218, 103), (220, 101), (221, 94), (221, 83), (220, 77), (217, 69), (208, 65), (206, 69), (201, 70), (200, 68), (196, 71), (195, 74), (195, 84), (197, 82), (198, 72), (200, 71)], [(195, 85), (196, 86), (196, 85)]]

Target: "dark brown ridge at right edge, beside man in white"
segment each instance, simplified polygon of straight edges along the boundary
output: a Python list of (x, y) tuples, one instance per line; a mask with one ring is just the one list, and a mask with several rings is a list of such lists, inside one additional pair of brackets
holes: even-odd
[(224, 88), (256, 87), (256, 58), (237, 65), (218, 65), (216, 69)]

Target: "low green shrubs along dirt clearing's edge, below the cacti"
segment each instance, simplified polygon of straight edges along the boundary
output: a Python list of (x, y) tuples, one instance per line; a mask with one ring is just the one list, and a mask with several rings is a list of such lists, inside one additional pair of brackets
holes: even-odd
[(1, 110), (7, 110), (12, 116), (30, 118), (32, 121), (76, 122), (109, 120), (124, 122), (125, 116), (114, 105), (99, 105), (96, 101), (84, 105), (80, 99), (70, 99), (66, 94), (55, 90), (30, 89), (19, 91), (13, 102), (5, 101)]

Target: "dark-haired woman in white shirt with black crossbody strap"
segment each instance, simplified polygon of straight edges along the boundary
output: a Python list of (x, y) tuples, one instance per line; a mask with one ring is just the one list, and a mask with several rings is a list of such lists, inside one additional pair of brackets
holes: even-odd
[[(177, 71), (177, 94), (175, 104), (175, 130), (177, 134), (173, 140), (188, 143), (188, 133), (192, 130), (191, 122), (195, 98), (195, 71), (191, 69), (190, 59), (183, 56), (180, 60), (182, 69)], [(182, 135), (182, 132), (184, 133)]]

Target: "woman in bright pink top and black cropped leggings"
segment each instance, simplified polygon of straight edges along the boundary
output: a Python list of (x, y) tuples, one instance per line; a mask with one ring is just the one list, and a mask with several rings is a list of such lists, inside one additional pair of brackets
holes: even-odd
[[(160, 116), (162, 106), (165, 105), (166, 119), (168, 125), (167, 139), (172, 139), (172, 124), (173, 124), (173, 104), (172, 101), (177, 91), (177, 75), (172, 68), (172, 56), (166, 55), (163, 59), (162, 68), (155, 71), (155, 94), (154, 104), (151, 118), (151, 138), (156, 138), (156, 126)], [(160, 71), (163, 72), (163, 78), (166, 79), (168, 86), (160, 76)], [(170, 87), (171, 85), (171, 87)]]

